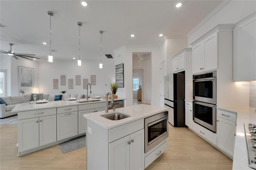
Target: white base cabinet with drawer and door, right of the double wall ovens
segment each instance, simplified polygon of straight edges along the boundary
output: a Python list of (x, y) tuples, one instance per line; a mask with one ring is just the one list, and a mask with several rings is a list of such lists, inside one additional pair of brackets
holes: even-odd
[(236, 134), (236, 114), (217, 109), (218, 148), (233, 157)]

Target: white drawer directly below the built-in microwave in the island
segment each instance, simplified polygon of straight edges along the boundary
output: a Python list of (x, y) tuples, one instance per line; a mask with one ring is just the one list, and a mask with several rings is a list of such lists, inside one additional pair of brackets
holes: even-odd
[(147, 168), (156, 158), (158, 158), (162, 153), (164, 153), (168, 148), (168, 141), (161, 144), (153, 152), (145, 157), (145, 168)]

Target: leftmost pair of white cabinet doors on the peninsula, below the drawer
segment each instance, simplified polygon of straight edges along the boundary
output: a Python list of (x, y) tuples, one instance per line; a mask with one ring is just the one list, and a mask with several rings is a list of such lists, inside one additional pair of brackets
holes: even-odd
[(56, 142), (56, 115), (18, 121), (18, 152)]

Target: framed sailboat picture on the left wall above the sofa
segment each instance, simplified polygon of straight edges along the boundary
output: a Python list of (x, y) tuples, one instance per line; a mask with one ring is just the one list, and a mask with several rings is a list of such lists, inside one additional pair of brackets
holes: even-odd
[(20, 89), (34, 88), (34, 69), (18, 66), (18, 81)]

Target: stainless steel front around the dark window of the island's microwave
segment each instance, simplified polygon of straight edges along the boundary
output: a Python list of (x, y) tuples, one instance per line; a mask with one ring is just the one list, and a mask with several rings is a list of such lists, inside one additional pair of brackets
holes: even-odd
[[(166, 132), (164, 132), (163, 134), (161, 134), (160, 136), (158, 136), (157, 138), (155, 138), (154, 140), (148, 143), (148, 125), (154, 125), (164, 119), (166, 119), (166, 126), (167, 126)], [(168, 137), (168, 111), (159, 113), (152, 117), (145, 118), (144, 123), (145, 123), (144, 128), (145, 128), (145, 153), (146, 153)]]

